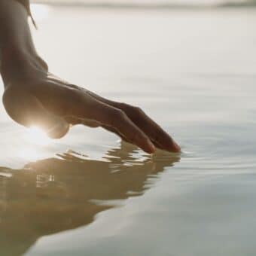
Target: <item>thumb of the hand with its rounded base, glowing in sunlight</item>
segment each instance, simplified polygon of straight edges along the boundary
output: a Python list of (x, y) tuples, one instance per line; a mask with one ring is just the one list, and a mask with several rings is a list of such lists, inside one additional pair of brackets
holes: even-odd
[(3, 103), (9, 116), (23, 126), (38, 126), (48, 136), (59, 139), (69, 131), (69, 123), (47, 111), (35, 96), (17, 88), (5, 90)]

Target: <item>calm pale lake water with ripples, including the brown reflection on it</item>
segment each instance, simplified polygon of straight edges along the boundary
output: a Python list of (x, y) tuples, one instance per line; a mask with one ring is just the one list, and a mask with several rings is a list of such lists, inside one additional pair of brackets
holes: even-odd
[(53, 73), (141, 106), (182, 153), (52, 141), (1, 105), (0, 254), (255, 255), (256, 9), (34, 12)]

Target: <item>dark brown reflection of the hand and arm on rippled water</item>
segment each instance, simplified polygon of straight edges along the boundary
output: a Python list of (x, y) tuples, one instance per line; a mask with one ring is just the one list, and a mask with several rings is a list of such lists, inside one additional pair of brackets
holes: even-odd
[(164, 152), (138, 158), (136, 150), (122, 142), (102, 160), (69, 152), (23, 169), (0, 167), (1, 255), (21, 255), (41, 236), (90, 224), (114, 207), (109, 200), (142, 195), (159, 172), (179, 161)]

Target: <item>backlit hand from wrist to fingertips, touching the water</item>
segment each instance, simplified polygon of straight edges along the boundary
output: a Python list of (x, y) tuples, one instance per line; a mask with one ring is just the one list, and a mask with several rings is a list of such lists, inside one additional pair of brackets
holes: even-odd
[(154, 153), (155, 148), (180, 151), (173, 139), (138, 107), (104, 99), (48, 72), (23, 74), (29, 75), (8, 84), (3, 96), (6, 111), (23, 126), (41, 126), (56, 139), (65, 136), (75, 124), (102, 126), (148, 153)]

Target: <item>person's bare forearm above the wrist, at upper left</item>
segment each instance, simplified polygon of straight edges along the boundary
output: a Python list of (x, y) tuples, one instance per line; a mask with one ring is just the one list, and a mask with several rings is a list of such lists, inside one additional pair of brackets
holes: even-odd
[(28, 11), (15, 0), (0, 1), (0, 72), (5, 84), (40, 66), (28, 23)]

